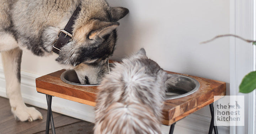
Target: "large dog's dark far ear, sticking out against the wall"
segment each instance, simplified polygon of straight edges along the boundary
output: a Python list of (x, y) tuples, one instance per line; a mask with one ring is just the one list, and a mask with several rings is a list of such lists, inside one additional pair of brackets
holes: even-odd
[(112, 16), (112, 22), (116, 22), (126, 16), (129, 13), (129, 10), (124, 7), (110, 7), (110, 13)]

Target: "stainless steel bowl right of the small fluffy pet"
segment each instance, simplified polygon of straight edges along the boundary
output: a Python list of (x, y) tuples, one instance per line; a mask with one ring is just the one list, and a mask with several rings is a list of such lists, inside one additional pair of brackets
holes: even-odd
[(196, 92), (200, 84), (192, 77), (169, 74), (171, 77), (165, 82), (167, 91), (165, 92), (165, 99), (170, 100), (190, 95)]

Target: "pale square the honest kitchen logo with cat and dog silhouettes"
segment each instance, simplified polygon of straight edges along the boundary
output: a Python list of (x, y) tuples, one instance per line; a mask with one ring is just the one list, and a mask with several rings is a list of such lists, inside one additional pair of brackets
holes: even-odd
[(219, 126), (243, 126), (244, 96), (214, 96), (214, 119)]

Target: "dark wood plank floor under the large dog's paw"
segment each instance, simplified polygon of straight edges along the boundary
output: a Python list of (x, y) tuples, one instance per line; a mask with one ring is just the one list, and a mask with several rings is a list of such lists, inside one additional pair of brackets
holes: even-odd
[[(43, 114), (42, 120), (20, 122), (14, 119), (9, 100), (0, 97), (0, 134), (45, 134), (47, 110), (36, 109)], [(93, 123), (58, 113), (53, 113), (53, 120), (56, 134), (93, 134)]]

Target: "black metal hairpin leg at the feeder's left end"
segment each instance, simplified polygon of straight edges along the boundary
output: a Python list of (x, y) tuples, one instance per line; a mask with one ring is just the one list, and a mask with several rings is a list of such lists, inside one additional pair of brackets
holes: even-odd
[(46, 134), (49, 134), (49, 128), (50, 124), (52, 127), (52, 134), (55, 134), (55, 128), (54, 128), (54, 122), (53, 122), (53, 116), (52, 116), (52, 96), (46, 95), (47, 100), (47, 118), (46, 118)]

